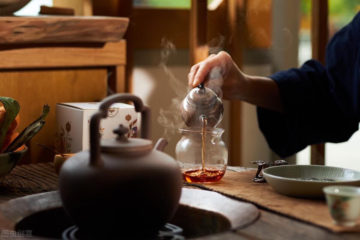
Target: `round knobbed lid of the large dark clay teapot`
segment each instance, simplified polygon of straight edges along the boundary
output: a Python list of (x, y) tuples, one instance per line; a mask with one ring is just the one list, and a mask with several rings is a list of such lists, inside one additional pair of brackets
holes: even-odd
[(101, 151), (102, 152), (121, 152), (132, 153), (136, 152), (137, 155), (141, 152), (148, 152), (152, 149), (153, 142), (143, 138), (127, 138), (126, 134), (129, 132), (129, 128), (126, 128), (122, 124), (114, 129), (113, 132), (117, 134), (116, 139), (102, 139)]

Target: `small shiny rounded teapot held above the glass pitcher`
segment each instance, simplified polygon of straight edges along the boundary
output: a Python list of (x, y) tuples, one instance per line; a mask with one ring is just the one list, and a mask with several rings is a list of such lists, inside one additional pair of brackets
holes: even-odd
[(216, 127), (224, 115), (224, 105), (210, 88), (201, 83), (192, 89), (180, 105), (181, 118), (189, 127), (201, 127), (202, 116), (207, 117), (207, 127)]

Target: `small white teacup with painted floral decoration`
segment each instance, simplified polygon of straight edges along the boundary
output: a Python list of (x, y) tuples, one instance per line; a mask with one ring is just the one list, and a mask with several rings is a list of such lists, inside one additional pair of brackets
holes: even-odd
[(360, 188), (332, 185), (323, 188), (323, 192), (335, 223), (355, 226), (360, 217)]

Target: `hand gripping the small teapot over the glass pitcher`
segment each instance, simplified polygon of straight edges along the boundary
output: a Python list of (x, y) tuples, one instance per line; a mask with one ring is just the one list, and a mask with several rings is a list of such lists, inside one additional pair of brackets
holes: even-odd
[[(207, 76), (214, 68), (220, 68), (222, 79), (216, 85), (221, 85), (223, 98), (225, 100), (241, 100), (242, 95), (246, 92), (248, 80), (247, 75), (243, 74), (238, 66), (234, 63), (231, 56), (224, 51), (218, 54), (211, 54), (204, 61), (192, 66), (188, 74), (190, 89), (197, 87), (202, 82), (207, 82)], [(223, 83), (220, 81), (224, 81)]]

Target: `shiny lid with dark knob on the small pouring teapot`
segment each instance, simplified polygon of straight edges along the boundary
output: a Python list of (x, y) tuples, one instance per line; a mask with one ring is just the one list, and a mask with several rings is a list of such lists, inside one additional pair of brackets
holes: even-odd
[(217, 95), (210, 88), (206, 88), (200, 83), (197, 88), (189, 92), (187, 100), (195, 105), (210, 105), (217, 100)]

